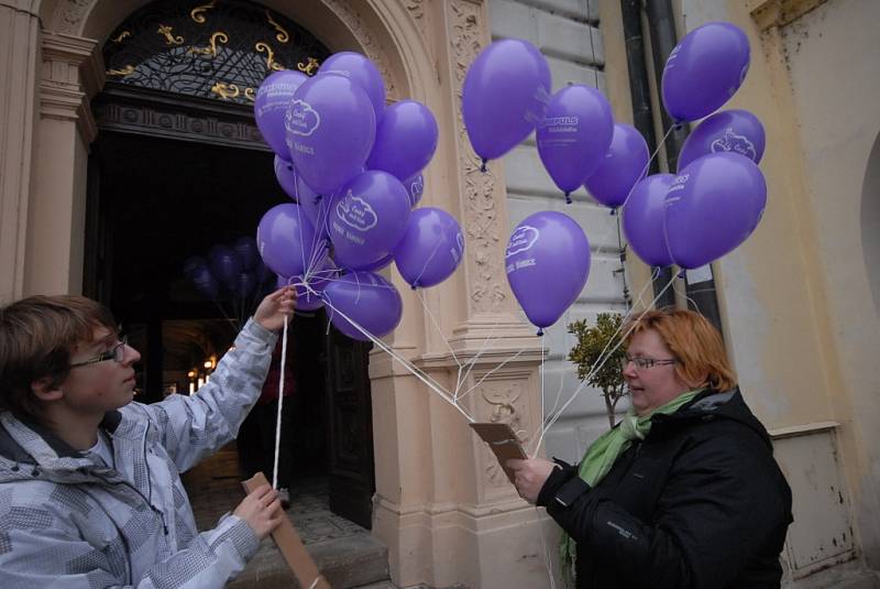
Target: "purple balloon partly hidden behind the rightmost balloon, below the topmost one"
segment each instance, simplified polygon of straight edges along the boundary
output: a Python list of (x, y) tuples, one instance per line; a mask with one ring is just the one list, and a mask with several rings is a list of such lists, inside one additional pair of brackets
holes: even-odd
[(765, 148), (763, 126), (748, 110), (723, 110), (703, 120), (688, 135), (679, 153), (679, 171), (703, 155), (729, 151), (756, 164)]

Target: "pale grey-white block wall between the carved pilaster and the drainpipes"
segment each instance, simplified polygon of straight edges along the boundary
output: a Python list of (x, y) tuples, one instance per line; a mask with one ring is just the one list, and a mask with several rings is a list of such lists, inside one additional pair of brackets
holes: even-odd
[[(540, 48), (550, 64), (553, 91), (568, 83), (605, 91), (598, 3), (600, 0), (491, 0), (492, 35), (493, 39), (526, 39)], [(564, 404), (580, 384), (574, 364), (566, 360), (575, 343), (574, 337), (566, 332), (568, 324), (581, 318), (594, 323), (598, 313), (626, 310), (617, 253), (617, 218), (612, 217), (607, 208), (596, 205), (583, 188), (572, 194), (572, 205), (565, 205), (562, 193), (541, 164), (534, 134), (505, 157), (505, 172), (512, 228), (539, 210), (562, 211), (583, 227), (592, 250), (586, 286), (560, 320), (544, 329), (544, 346), (550, 350), (543, 377), (544, 415), (549, 415), (552, 407)], [(526, 320), (521, 312), (520, 316)], [(578, 461), (586, 446), (607, 428), (600, 392), (584, 388), (548, 433), (547, 454)]]

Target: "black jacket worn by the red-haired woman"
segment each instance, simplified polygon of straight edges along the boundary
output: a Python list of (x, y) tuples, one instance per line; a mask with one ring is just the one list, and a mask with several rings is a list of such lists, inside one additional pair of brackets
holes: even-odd
[(739, 390), (651, 422), (595, 488), (561, 463), (541, 489), (578, 544), (578, 588), (779, 587), (791, 490)]

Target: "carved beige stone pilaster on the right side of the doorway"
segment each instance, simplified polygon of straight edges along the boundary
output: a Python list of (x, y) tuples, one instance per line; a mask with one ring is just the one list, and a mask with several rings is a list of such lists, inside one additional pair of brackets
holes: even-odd
[[(441, 134), (426, 173), (425, 204), (459, 219), (465, 255), (447, 283), (424, 294), (425, 314), (420, 302), (407, 299), (418, 313), (394, 341), (425, 374), (458, 392), (475, 421), (508, 423), (532, 444), (541, 424), (543, 349), (517, 317), (505, 276), (510, 228), (503, 163), (480, 171), (461, 112), (468, 68), (491, 39), (487, 7), (484, 0), (406, 0), (404, 8), (410, 36), (420, 39), (398, 41), (408, 78), (415, 92), (425, 92)], [(425, 75), (431, 70), (436, 78)], [(408, 342), (411, 352), (404, 350)], [(370, 369), (373, 531), (388, 545), (395, 583), (546, 586), (538, 513), (516, 494), (469, 419), (387, 357), (374, 353)]]

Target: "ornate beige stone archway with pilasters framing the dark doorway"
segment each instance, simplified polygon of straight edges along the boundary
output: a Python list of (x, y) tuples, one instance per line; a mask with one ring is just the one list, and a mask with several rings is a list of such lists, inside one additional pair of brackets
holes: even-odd
[[(0, 132), (7, 153), (0, 205), (0, 293), (79, 292), (82, 276), (86, 161), (97, 127), (90, 99), (106, 79), (97, 48), (145, 0), (0, 0), (0, 40), (11, 55), (0, 80), (10, 114)], [(194, 4), (208, 4), (194, 2)], [(504, 170), (482, 174), (461, 121), (466, 68), (490, 41), (484, 0), (316, 0), (264, 6), (318, 36), (331, 51), (374, 59), (388, 99), (411, 97), (438, 119), (440, 143), (426, 173), (425, 204), (461, 220), (463, 268), (419, 297), (405, 297), (388, 338), (439, 382), (464, 386), (477, 421), (534, 432), (540, 423), (539, 341), (514, 315), (504, 275), (509, 233)], [(9, 247), (7, 247), (9, 244)], [(7, 270), (9, 269), (9, 270)], [(439, 327), (435, 327), (433, 321)], [(493, 351), (481, 353), (492, 335)], [(525, 350), (515, 361), (512, 350)], [(535, 511), (504, 478), (461, 415), (387, 357), (371, 359), (376, 495), (373, 533), (389, 548), (399, 586), (538, 587), (544, 557)], [(484, 381), (481, 379), (485, 378)]]

